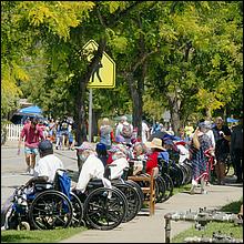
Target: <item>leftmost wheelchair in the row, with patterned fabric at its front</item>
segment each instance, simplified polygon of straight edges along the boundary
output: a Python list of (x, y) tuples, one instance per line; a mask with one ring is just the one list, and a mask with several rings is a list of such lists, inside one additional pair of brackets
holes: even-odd
[(61, 191), (61, 172), (64, 171), (57, 171), (53, 183), (38, 182), (18, 187), (1, 222), (4, 221), (10, 230), (55, 230), (81, 225), (83, 204), (72, 192)]

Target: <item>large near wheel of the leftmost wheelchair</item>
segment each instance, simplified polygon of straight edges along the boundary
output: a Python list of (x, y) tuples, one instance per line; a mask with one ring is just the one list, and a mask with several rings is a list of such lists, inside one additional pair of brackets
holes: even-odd
[(30, 223), (38, 230), (68, 227), (72, 216), (73, 209), (70, 200), (55, 190), (41, 192), (30, 205)]

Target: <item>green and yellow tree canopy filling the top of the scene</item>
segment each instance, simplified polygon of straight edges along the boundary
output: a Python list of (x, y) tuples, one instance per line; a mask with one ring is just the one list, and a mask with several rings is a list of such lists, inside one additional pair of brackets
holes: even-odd
[[(100, 116), (131, 113), (140, 128), (142, 115), (162, 120), (170, 110), (176, 131), (189, 120), (242, 111), (241, 1), (2, 1), (1, 7), (2, 116), (28, 98), (48, 115), (74, 116), (82, 131), (88, 81), (103, 51), (116, 63), (116, 85), (94, 89)], [(88, 62), (82, 47), (91, 39), (99, 49)]]

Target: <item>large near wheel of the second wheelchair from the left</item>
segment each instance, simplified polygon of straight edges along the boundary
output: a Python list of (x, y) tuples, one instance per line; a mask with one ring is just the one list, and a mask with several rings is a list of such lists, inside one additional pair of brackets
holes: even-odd
[(115, 187), (99, 187), (84, 201), (84, 217), (88, 225), (102, 231), (113, 230), (124, 220), (128, 202)]

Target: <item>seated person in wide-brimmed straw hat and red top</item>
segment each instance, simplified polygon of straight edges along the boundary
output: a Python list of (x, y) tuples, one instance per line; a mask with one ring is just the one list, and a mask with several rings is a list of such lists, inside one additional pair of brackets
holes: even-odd
[(162, 140), (157, 138), (154, 138), (152, 142), (145, 142), (145, 146), (151, 149), (151, 153), (149, 154), (145, 164), (145, 172), (148, 174), (152, 174), (152, 169), (157, 167), (157, 157), (160, 152), (166, 150), (162, 146)]

